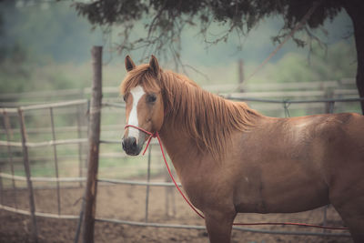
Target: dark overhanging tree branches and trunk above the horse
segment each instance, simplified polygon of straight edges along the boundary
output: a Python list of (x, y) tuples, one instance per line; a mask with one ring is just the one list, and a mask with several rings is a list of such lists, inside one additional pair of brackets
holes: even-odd
[[(357, 47), (357, 86), (359, 96), (364, 97), (364, 1), (363, 0), (96, 0), (76, 3), (80, 15), (84, 15), (93, 25), (104, 26), (106, 31), (112, 25), (120, 25), (123, 30), (119, 50), (130, 51), (145, 48), (146, 53), (166, 53), (169, 51), (179, 60), (180, 35), (190, 26), (197, 26), (209, 44), (227, 41), (232, 33), (247, 35), (249, 30), (270, 15), (281, 15), (284, 25), (273, 41), (280, 42), (298, 25), (313, 5), (319, 6), (309, 16), (300, 30), (312, 38), (310, 29), (323, 25), (326, 19), (332, 20), (342, 9), (349, 14)], [(146, 35), (135, 37), (131, 31), (138, 23), (146, 20)], [(225, 27), (225, 32), (208, 39), (212, 25)], [(306, 43), (292, 36), (298, 46)], [(364, 113), (364, 101), (361, 102)]]

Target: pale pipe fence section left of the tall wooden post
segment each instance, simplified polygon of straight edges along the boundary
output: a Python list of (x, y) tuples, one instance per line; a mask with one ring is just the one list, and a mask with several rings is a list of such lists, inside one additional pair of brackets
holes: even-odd
[[(11, 174), (5, 174), (1, 171), (0, 167), (0, 181), (3, 185), (3, 179), (11, 179), (12, 181), (12, 189), (14, 191), (14, 205), (15, 208), (4, 205), (2, 201), (0, 208), (5, 209), (7, 211), (12, 211), (21, 214), (30, 215), (32, 218), (32, 238), (35, 242), (37, 242), (37, 227), (36, 227), (36, 218), (35, 217), (52, 217), (52, 218), (69, 218), (68, 216), (61, 215), (61, 194), (60, 194), (60, 182), (70, 182), (70, 181), (81, 181), (83, 178), (61, 178), (58, 173), (58, 159), (57, 159), (57, 146), (61, 145), (72, 145), (77, 144), (80, 145), (82, 143), (86, 143), (86, 138), (78, 138), (78, 139), (56, 139), (56, 131), (55, 131), (55, 118), (54, 118), (54, 109), (65, 106), (79, 106), (87, 104), (87, 100), (74, 100), (74, 101), (66, 101), (66, 102), (58, 102), (53, 104), (42, 104), (35, 106), (19, 106), (17, 108), (0, 108), (0, 114), (3, 115), (3, 124), (5, 129), (6, 140), (0, 141), (0, 147), (7, 147), (7, 154), (9, 159), (9, 164), (11, 167)], [(52, 131), (52, 140), (44, 141), (44, 142), (28, 142), (28, 136), (26, 134), (25, 128), (25, 112), (29, 112), (37, 109), (48, 109), (51, 131)], [(9, 119), (9, 114), (13, 114), (18, 117), (18, 127), (20, 127), (20, 141), (12, 141), (11, 138), (11, 124)], [(43, 118), (43, 117), (42, 117)], [(80, 123), (79, 123), (80, 125)], [(15, 163), (14, 163), (14, 154), (12, 149), (14, 147), (21, 147), (23, 154), (23, 162), (25, 168), (25, 177), (15, 175)], [(31, 164), (29, 162), (29, 151), (28, 149), (35, 147), (53, 147), (53, 155), (55, 162), (55, 173), (56, 177), (32, 177), (31, 176)], [(80, 154), (82, 153), (80, 150), (78, 151)], [(81, 161), (80, 161), (81, 163)], [(26, 211), (18, 207), (18, 189), (16, 187), (15, 181), (25, 181), (28, 190), (28, 201), (29, 201), (29, 210)], [(57, 214), (56, 217), (53, 214), (46, 214), (37, 212), (35, 209), (35, 193), (33, 182), (56, 182), (56, 200), (57, 200)], [(2, 198), (4, 195), (4, 187), (1, 187)], [(26, 212), (26, 213), (25, 213)], [(72, 217), (75, 218), (75, 217)]]

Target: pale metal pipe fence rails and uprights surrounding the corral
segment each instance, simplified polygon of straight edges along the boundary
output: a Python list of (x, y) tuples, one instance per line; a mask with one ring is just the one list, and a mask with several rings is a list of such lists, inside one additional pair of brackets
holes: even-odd
[[(335, 104), (338, 103), (351, 103), (351, 102), (359, 102), (364, 100), (364, 98), (325, 98), (325, 99), (318, 99), (318, 100), (273, 100), (273, 99), (261, 99), (261, 98), (249, 98), (249, 97), (241, 97), (236, 94), (226, 95), (225, 97), (229, 99), (235, 100), (243, 100), (248, 102), (261, 102), (264, 104), (275, 103), (281, 104), (283, 109), (285, 110), (286, 116), (289, 116), (289, 105), (290, 104), (311, 104), (311, 103), (323, 103), (327, 106), (327, 111), (332, 113), (335, 108)], [(79, 183), (80, 187), (83, 187), (83, 183), (86, 181), (86, 177), (84, 177), (84, 170), (86, 168), (86, 155), (83, 152), (83, 147), (86, 147), (87, 139), (82, 137), (82, 129), (85, 125), (81, 122), (81, 117), (79, 114), (81, 113), (80, 106), (85, 106), (89, 102), (86, 99), (75, 100), (75, 101), (67, 101), (67, 102), (59, 102), (54, 104), (43, 104), (43, 105), (36, 105), (36, 106), (21, 106), (18, 108), (0, 108), (0, 115), (3, 116), (3, 134), (5, 135), (6, 140), (0, 140), (0, 147), (6, 147), (7, 151), (7, 162), (10, 167), (10, 174), (1, 171), (0, 165), (0, 209), (4, 209), (10, 212), (15, 212), (19, 214), (29, 215), (32, 218), (33, 228), (33, 237), (37, 238), (37, 228), (36, 228), (36, 217), (45, 217), (45, 218), (68, 218), (68, 219), (78, 219), (78, 215), (68, 215), (63, 214), (63, 209), (61, 208), (61, 193), (60, 190), (62, 188), (61, 182), (76, 182)], [(114, 108), (124, 108), (124, 104), (115, 103), (115, 102), (104, 102), (103, 108), (106, 107), (114, 107)], [(58, 139), (56, 137), (56, 125), (55, 125), (55, 117), (54, 112), (56, 108), (59, 107), (66, 107), (66, 106), (76, 106), (78, 109), (77, 117), (76, 117), (76, 134), (77, 138), (72, 139)], [(31, 112), (32, 110), (38, 109), (47, 109), (50, 117), (50, 124), (51, 124), (51, 134), (52, 139), (48, 141), (42, 142), (29, 142), (27, 140), (26, 129), (25, 129), (25, 121), (24, 121), (24, 113)], [(14, 114), (18, 116), (18, 122), (20, 127), (20, 135), (21, 141), (13, 141), (10, 136), (10, 130), (12, 129), (11, 124), (9, 123), (9, 114)], [(86, 126), (87, 127), (87, 126)], [(119, 144), (120, 140), (116, 139), (101, 139), (100, 144), (104, 145), (114, 145)], [(151, 145), (156, 145), (156, 142), (153, 142)], [(78, 149), (78, 174), (77, 177), (61, 177), (59, 174), (59, 158), (58, 155), (58, 148), (63, 145), (76, 145)], [(23, 150), (23, 162), (25, 167), (25, 176), (15, 175), (15, 156), (14, 156), (14, 148), (22, 148)], [(53, 160), (54, 160), (54, 167), (55, 167), (55, 177), (32, 177), (31, 175), (31, 163), (29, 163), (29, 154), (28, 149), (35, 148), (35, 147), (51, 147), (53, 148)], [(149, 194), (150, 194), (150, 187), (174, 187), (174, 184), (171, 182), (155, 182), (150, 181), (151, 177), (151, 169), (150, 169), (150, 162), (151, 162), (151, 153), (152, 147), (148, 149), (147, 155), (147, 179), (145, 181), (141, 180), (130, 180), (130, 179), (115, 179), (115, 178), (98, 178), (97, 181), (102, 183), (103, 185), (110, 185), (110, 184), (120, 184), (120, 185), (134, 185), (140, 187), (146, 187), (146, 214), (145, 220), (143, 222), (137, 222), (132, 220), (124, 220), (124, 219), (117, 219), (117, 218), (96, 218), (96, 221), (102, 222), (112, 222), (112, 223), (120, 223), (126, 225), (134, 225), (134, 226), (145, 226), (145, 227), (161, 227), (161, 228), (193, 228), (193, 229), (205, 229), (203, 226), (195, 226), (195, 225), (176, 225), (176, 224), (160, 224), (155, 222), (150, 222), (148, 218), (148, 205), (149, 205)], [(11, 181), (11, 186), (9, 188), (4, 187), (3, 179), (7, 179)], [(19, 202), (17, 198), (19, 188), (16, 187), (16, 181), (23, 181), (26, 182), (27, 190), (28, 190), (28, 200), (29, 200), (29, 210), (25, 210), (19, 208)], [(56, 183), (56, 205), (57, 210), (56, 213), (44, 213), (40, 212), (35, 208), (35, 198), (34, 198), (34, 186), (32, 182), (53, 182)], [(178, 185), (181, 187), (181, 185)], [(4, 197), (4, 190), (10, 189), (14, 192), (14, 207), (10, 207), (4, 204), (3, 197)], [(326, 210), (324, 208), (323, 211), (323, 224), (326, 224)], [(268, 229), (253, 229), (253, 228), (241, 228), (236, 227), (236, 230), (248, 231), (248, 232), (257, 232), (257, 233), (264, 233), (264, 234), (283, 234), (283, 235), (309, 235), (309, 236), (330, 236), (330, 237), (349, 237), (348, 233), (331, 233), (331, 232), (311, 232), (311, 231), (278, 231), (278, 230), (268, 230)]]

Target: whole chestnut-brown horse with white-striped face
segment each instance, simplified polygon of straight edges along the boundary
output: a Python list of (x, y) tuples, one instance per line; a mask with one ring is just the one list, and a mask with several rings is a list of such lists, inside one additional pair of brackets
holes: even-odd
[[(126, 56), (126, 124), (158, 132), (211, 242), (229, 242), (237, 213), (293, 213), (331, 203), (364, 242), (364, 116), (275, 118), (213, 95), (157, 58)], [(126, 154), (147, 135), (127, 127)]]

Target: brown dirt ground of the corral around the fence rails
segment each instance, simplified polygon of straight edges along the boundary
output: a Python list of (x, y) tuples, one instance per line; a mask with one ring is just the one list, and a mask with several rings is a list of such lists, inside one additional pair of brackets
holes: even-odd
[[(67, 185), (61, 185), (66, 187)], [(78, 215), (81, 208), (80, 198), (83, 188), (63, 188), (60, 191), (61, 214)], [(4, 204), (15, 207), (15, 194), (5, 192)], [(176, 211), (174, 212), (173, 201)], [(17, 207), (28, 208), (26, 190), (17, 190)], [(55, 189), (36, 189), (35, 208), (37, 212), (57, 213), (57, 197)], [(177, 195), (175, 188), (150, 187), (148, 222), (163, 224), (204, 225), (201, 218), (188, 208), (182, 198)], [(338, 213), (329, 207), (327, 212), (329, 226), (343, 226)], [(97, 189), (97, 218), (117, 218), (124, 220), (146, 220), (146, 187), (142, 186), (106, 186), (99, 185)], [(239, 215), (236, 222), (305, 222), (320, 224), (323, 218), (323, 208), (318, 208), (296, 214), (245, 214)], [(74, 242), (76, 234), (76, 219), (36, 218), (39, 242)], [(32, 242), (30, 239), (30, 217), (5, 210), (0, 210), (0, 242)], [(279, 231), (316, 231), (322, 229), (301, 227), (249, 227)], [(332, 231), (333, 232), (333, 231)], [(339, 233), (337, 231), (334, 233)], [(82, 242), (81, 239), (79, 242)], [(125, 226), (116, 223), (96, 221), (95, 242), (208, 242), (206, 230), (179, 228), (152, 228)], [(352, 242), (346, 237), (314, 237), (272, 235), (233, 230), (232, 242), (268, 243), (268, 242)]]

